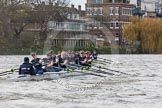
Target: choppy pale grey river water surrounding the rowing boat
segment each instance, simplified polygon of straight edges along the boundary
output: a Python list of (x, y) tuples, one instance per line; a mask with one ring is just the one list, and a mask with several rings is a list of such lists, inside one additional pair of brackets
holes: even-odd
[[(0, 56), (0, 72), (17, 68), (23, 57)], [(105, 67), (129, 75), (24, 82), (0, 78), (0, 108), (161, 108), (162, 55), (100, 57), (113, 61)]]

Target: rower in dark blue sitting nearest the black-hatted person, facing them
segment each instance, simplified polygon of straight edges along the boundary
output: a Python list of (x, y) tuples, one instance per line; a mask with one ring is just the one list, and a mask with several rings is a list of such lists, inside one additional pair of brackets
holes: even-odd
[(34, 66), (36, 74), (43, 74), (44, 70), (42, 69), (41, 59), (37, 58), (36, 53), (32, 52), (31, 56), (33, 59), (31, 60), (31, 64)]

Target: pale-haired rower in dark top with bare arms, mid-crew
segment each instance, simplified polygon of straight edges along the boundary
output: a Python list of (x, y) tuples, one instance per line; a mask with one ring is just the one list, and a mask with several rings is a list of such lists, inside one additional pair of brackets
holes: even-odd
[(68, 64), (68, 58), (66, 52), (61, 52), (61, 58), (59, 59), (59, 65), (61, 68), (66, 68), (66, 65)]

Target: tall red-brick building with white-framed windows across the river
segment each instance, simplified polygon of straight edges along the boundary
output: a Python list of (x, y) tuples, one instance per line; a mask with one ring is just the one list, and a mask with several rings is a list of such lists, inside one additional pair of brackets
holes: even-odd
[(87, 0), (86, 16), (94, 20), (87, 25), (88, 29), (91, 34), (102, 34), (109, 43), (116, 41), (121, 44), (122, 26), (130, 23), (134, 9), (135, 5), (129, 4), (129, 0)]

